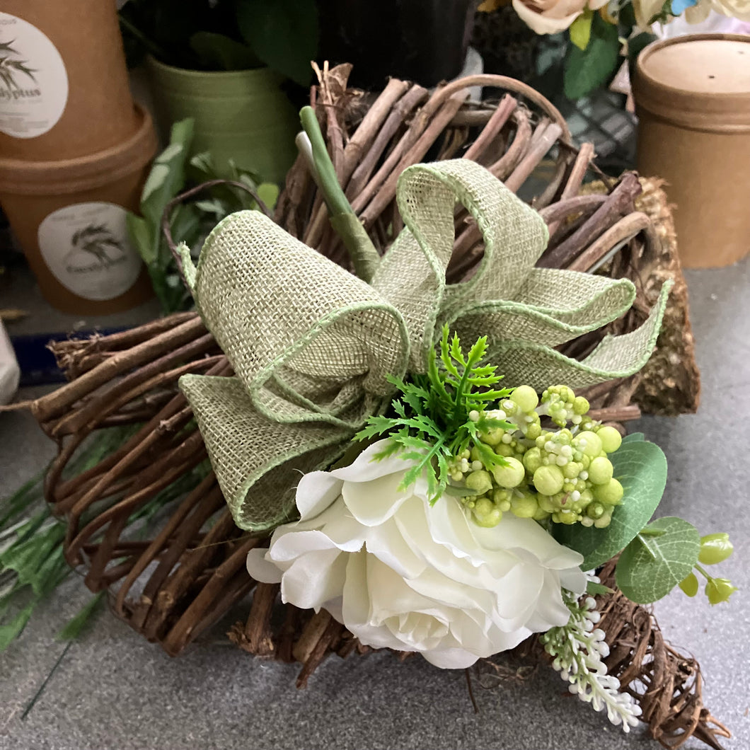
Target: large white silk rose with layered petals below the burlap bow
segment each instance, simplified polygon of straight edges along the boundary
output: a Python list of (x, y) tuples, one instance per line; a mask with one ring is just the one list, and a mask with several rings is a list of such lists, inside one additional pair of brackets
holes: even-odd
[(420, 479), (398, 489), (412, 461), (373, 460), (381, 440), (350, 465), (302, 477), (301, 519), (279, 526), (248, 571), (281, 582), (281, 598), (325, 608), (362, 643), (418, 651), (438, 667), (469, 667), (532, 633), (565, 625), (561, 587), (583, 593), (583, 558), (530, 518), (493, 528)]

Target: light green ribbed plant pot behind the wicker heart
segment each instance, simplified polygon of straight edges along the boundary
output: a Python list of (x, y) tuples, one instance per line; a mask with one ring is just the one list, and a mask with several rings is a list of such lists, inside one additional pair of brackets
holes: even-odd
[(194, 118), (193, 153), (210, 151), (225, 176), (232, 159), (263, 180), (283, 183), (300, 130), (297, 112), (280, 89), (284, 77), (269, 68), (186, 71), (153, 58), (149, 68), (154, 97), (169, 120)]

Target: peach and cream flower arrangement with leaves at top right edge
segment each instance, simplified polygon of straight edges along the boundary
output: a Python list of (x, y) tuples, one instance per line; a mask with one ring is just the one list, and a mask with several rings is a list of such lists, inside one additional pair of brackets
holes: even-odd
[[(505, 0), (484, 0), (478, 10), (491, 13)], [(512, 0), (518, 16), (536, 34), (567, 37), (563, 61), (565, 96), (578, 99), (612, 80), (623, 58), (634, 62), (655, 40), (652, 26), (684, 16), (688, 23), (706, 20), (714, 10), (750, 21), (745, 0)]]

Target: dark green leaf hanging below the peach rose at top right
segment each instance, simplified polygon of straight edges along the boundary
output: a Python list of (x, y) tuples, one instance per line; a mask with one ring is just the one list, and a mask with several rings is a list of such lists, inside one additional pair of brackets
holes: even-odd
[(617, 27), (594, 13), (586, 49), (568, 45), (563, 83), (568, 99), (580, 99), (604, 86), (617, 67), (619, 39)]

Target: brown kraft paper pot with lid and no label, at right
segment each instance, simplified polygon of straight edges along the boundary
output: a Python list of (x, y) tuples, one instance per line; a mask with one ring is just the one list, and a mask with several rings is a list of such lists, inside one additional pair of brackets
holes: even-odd
[(633, 91), (637, 168), (667, 181), (682, 265), (735, 263), (750, 251), (750, 37), (649, 44)]

